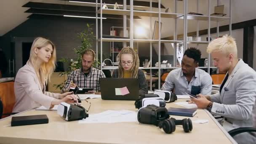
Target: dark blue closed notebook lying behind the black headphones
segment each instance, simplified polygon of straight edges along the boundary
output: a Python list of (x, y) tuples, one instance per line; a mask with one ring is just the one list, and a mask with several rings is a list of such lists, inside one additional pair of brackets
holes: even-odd
[(185, 117), (194, 117), (194, 115), (197, 113), (197, 109), (183, 109), (183, 108), (168, 108), (168, 114), (169, 115), (179, 115), (179, 116), (185, 116)]

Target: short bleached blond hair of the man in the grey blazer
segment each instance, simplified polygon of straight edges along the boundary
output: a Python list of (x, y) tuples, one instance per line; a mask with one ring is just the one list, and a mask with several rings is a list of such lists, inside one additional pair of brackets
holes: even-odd
[(231, 36), (224, 35), (211, 41), (207, 47), (207, 53), (212, 52), (232, 53), (237, 58), (237, 44), (235, 39)]

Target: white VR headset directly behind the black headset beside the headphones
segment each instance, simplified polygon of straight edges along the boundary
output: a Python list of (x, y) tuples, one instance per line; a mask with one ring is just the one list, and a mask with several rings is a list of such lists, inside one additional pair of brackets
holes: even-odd
[(148, 105), (151, 105), (151, 104), (154, 104), (158, 107), (165, 107), (165, 100), (160, 97), (142, 99), (142, 107), (147, 107)]

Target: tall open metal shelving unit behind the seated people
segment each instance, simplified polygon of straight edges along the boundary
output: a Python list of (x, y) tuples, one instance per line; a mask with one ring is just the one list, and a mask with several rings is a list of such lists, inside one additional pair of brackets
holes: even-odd
[[(98, 21), (96, 20), (96, 53), (98, 53), (98, 42), (100, 44), (99, 48), (101, 51), (100, 55), (100, 61), (102, 62), (102, 42), (123, 42), (123, 47), (126, 47), (127, 43), (130, 43), (130, 46), (133, 47), (134, 43), (149, 43), (150, 44), (150, 56), (149, 60), (152, 61), (152, 44), (158, 43), (158, 64), (160, 65), (160, 44), (161, 43), (184, 43), (184, 51), (187, 49), (187, 44), (197, 44), (198, 45), (207, 45), (210, 43), (210, 40), (208, 41), (187, 41), (187, 21), (188, 20), (197, 20), (197, 37), (199, 37), (199, 21), (208, 21), (208, 37), (211, 37), (210, 29), (211, 29), (211, 21), (215, 21), (217, 23), (217, 37), (219, 37), (219, 22), (229, 20), (229, 35), (231, 35), (231, 21), (232, 21), (232, 11), (231, 11), (231, 3), (232, 0), (229, 0), (229, 17), (220, 17), (220, 16), (211, 16), (211, 0), (208, 0), (208, 15), (192, 15), (187, 14), (187, 1), (183, 0), (184, 5), (184, 13), (177, 13), (177, 0), (175, 0), (175, 13), (165, 13), (161, 12), (160, 3), (161, 0), (158, 0), (158, 11), (152, 11), (152, 0), (150, 0), (150, 7), (149, 11), (138, 11), (133, 10), (133, 0), (130, 0), (130, 9), (128, 10), (126, 8), (126, 0), (123, 0), (123, 9), (103, 9), (102, 8), (102, 0), (100, 0), (100, 8), (98, 9), (98, 0), (96, 0), (96, 19), (98, 17), (98, 14), (100, 14), (100, 36), (98, 37)], [(219, 5), (219, 0), (217, 0), (217, 5)], [(197, 13), (199, 12), (199, 0), (197, 0)], [(102, 38), (102, 14), (114, 14), (114, 15), (123, 15), (123, 36), (126, 36), (126, 30), (127, 30), (127, 17), (130, 16), (130, 26), (129, 26), (129, 33), (130, 37), (128, 39), (125, 38)], [(150, 29), (152, 29), (152, 18), (158, 18), (159, 24), (161, 23), (161, 19), (175, 19), (175, 31), (173, 35), (173, 40), (161, 40), (161, 27), (158, 27), (158, 39), (157, 40), (151, 40), (151, 39), (134, 39), (133, 38), (133, 16), (147, 16), (150, 17)], [(185, 19), (184, 19), (185, 18)], [(183, 40), (177, 39), (177, 19), (183, 19), (184, 20), (184, 32), (183, 32)], [(122, 28), (122, 27), (120, 27)], [(152, 32), (150, 31), (150, 36), (152, 37)], [(152, 70), (158, 69), (158, 88), (160, 89), (160, 72), (161, 69), (177, 69), (179, 67), (176, 67), (176, 44), (173, 45), (174, 48), (174, 56), (173, 56), (173, 67), (152, 67), (152, 62), (150, 64), (150, 67), (144, 68), (139, 67), (139, 69), (149, 69), (150, 70), (150, 77), (152, 77)], [(97, 57), (98, 59), (98, 54)], [(117, 67), (102, 67), (100, 66), (100, 69), (115, 69)], [(210, 68), (216, 68), (216, 67), (210, 67), (210, 54), (208, 55), (208, 67), (198, 67), (198, 68), (207, 68), (208, 72), (210, 72)], [(152, 90), (152, 78), (150, 80), (150, 90)]]

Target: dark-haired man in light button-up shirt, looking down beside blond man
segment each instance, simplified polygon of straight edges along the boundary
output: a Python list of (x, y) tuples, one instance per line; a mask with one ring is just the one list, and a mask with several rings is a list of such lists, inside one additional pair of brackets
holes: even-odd
[(200, 57), (201, 51), (197, 48), (187, 49), (181, 61), (181, 68), (174, 69), (168, 74), (162, 89), (173, 91), (175, 88), (177, 95), (186, 95), (186, 93), (211, 94), (211, 76), (204, 70), (197, 68)]

